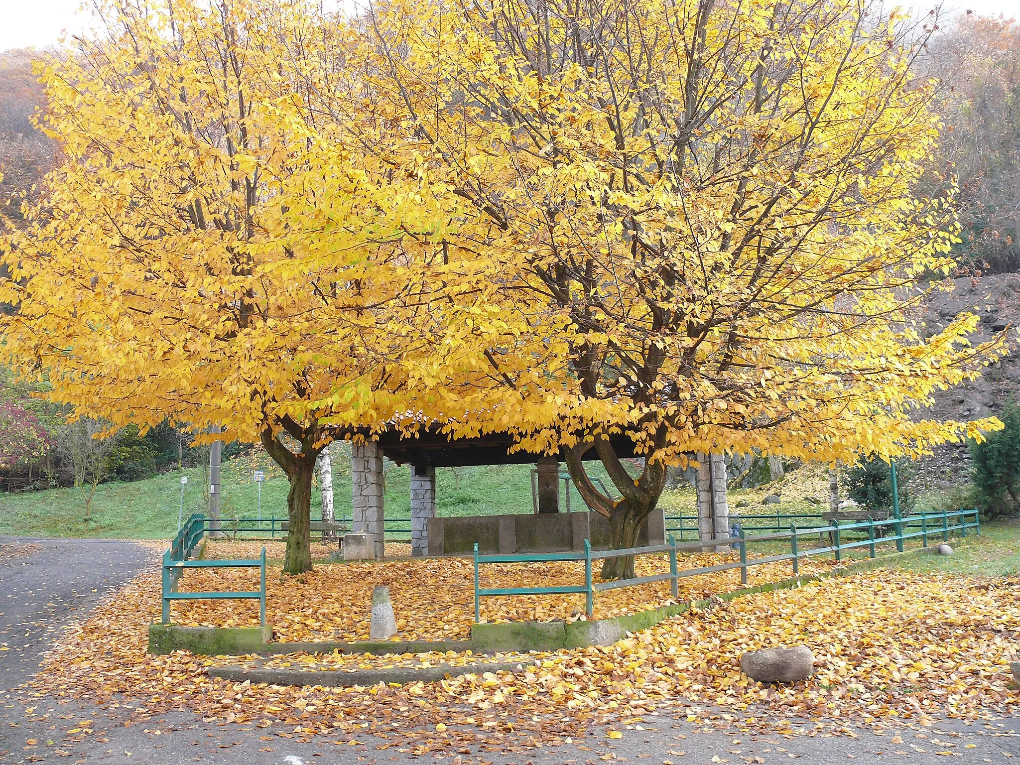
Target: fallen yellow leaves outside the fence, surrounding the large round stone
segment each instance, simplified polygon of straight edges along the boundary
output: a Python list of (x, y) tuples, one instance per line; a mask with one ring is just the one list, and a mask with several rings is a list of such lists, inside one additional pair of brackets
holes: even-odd
[[(510, 733), (555, 744), (590, 723), (633, 723), (677, 701), (721, 707), (749, 727), (796, 715), (845, 725), (1020, 712), (1020, 690), (1009, 684), (1009, 662), (1020, 659), (1016, 578), (882, 569), (686, 613), (611, 647), (537, 655), (541, 669), (525, 675), (370, 688), (234, 683), (210, 678), (207, 667), (238, 658), (148, 656), (157, 597), (157, 579), (147, 574), (101, 606), (49, 655), (33, 693), (130, 706), (141, 715), (184, 707), (224, 721), (279, 721), (294, 726), (287, 733), (294, 736), (357, 740), (371, 732), (418, 754), (476, 742), (499, 748)], [(742, 674), (745, 651), (797, 644), (815, 655), (816, 674), (807, 682), (763, 686)], [(436, 654), (274, 661), (465, 660)]]

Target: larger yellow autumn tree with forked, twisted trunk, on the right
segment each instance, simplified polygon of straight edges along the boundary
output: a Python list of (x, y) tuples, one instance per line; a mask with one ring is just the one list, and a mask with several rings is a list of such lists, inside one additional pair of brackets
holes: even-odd
[[(913, 320), (957, 227), (950, 199), (915, 192), (938, 125), (905, 17), (864, 0), (393, 0), (355, 28), (365, 87), (345, 130), (425, 161), (457, 206), (437, 249), (463, 289), (434, 303), (438, 363), (475, 372), (431, 411), (563, 450), (617, 547), (692, 452), (853, 461), (999, 426), (921, 411), (1001, 339), (969, 347), (969, 314)], [(639, 475), (609, 448), (622, 432)], [(589, 480), (591, 450), (619, 496)]]

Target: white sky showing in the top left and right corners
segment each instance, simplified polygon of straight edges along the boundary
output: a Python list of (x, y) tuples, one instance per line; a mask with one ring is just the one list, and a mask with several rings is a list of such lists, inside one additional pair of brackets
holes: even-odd
[[(933, 5), (916, 0), (905, 4)], [(78, 12), (81, 5), (82, 0), (0, 0), (0, 51), (44, 48), (54, 45), (64, 32), (81, 34), (89, 27), (89, 16)], [(1020, 0), (947, 0), (946, 5), (984, 15), (1020, 16)]]

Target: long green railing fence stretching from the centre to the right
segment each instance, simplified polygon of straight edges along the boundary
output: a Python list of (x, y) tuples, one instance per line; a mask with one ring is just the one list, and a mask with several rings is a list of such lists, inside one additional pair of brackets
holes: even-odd
[[(969, 518), (973, 520), (969, 520)], [(973, 528), (976, 533), (981, 532), (981, 520), (977, 509), (956, 510), (954, 512), (926, 513), (911, 515), (906, 518), (889, 518), (888, 520), (872, 520), (839, 523), (838, 521), (828, 526), (810, 526), (798, 528), (790, 525), (789, 530), (776, 533), (760, 534), (758, 537), (746, 537), (741, 530), (740, 536), (726, 539), (712, 540), (710, 542), (687, 542), (677, 543), (676, 538), (670, 533), (669, 542), (665, 545), (652, 545), (649, 547), (630, 548), (627, 550), (600, 550), (592, 551), (592, 546), (584, 540), (584, 552), (570, 553), (517, 553), (514, 555), (478, 555), (478, 546), (474, 546), (474, 620), (480, 618), (481, 598), (507, 595), (553, 595), (553, 594), (583, 594), (585, 596), (585, 612), (591, 618), (595, 594), (603, 590), (613, 590), (616, 588), (635, 586), (647, 584), (653, 581), (671, 582), (671, 591), (674, 598), (677, 597), (677, 581), (687, 576), (713, 573), (715, 571), (727, 571), (734, 568), (741, 569), (741, 583), (748, 583), (748, 569), (752, 566), (760, 566), (765, 563), (776, 563), (789, 561), (793, 565), (794, 575), (800, 573), (800, 562), (802, 559), (812, 555), (835, 556), (837, 562), (843, 560), (843, 554), (850, 550), (867, 547), (869, 556), (875, 557), (876, 545), (895, 544), (898, 552), (903, 552), (906, 540), (920, 539), (924, 547), (928, 546), (930, 538), (940, 538), (948, 542), (950, 533), (959, 531), (962, 537), (967, 536), (967, 529)], [(892, 533), (887, 533), (891, 530)], [(830, 534), (830, 545), (820, 545), (816, 548), (802, 549), (798, 543), (801, 537), (819, 537)], [(846, 541), (845, 534), (852, 533), (866, 536), (866, 539)], [(748, 558), (748, 545), (759, 543), (775, 543), (788, 540), (789, 552), (777, 555), (769, 555), (761, 558)], [(708, 548), (734, 547), (738, 554), (738, 560), (728, 563), (720, 563), (714, 566), (702, 566), (700, 568), (687, 568), (677, 570), (677, 553), (697, 552)], [(652, 576), (638, 576), (629, 579), (617, 579), (612, 581), (596, 582), (592, 577), (592, 562), (605, 560), (607, 558), (621, 558), (629, 555), (661, 555), (669, 554), (669, 572), (654, 574)], [(492, 588), (484, 589), (478, 585), (478, 566), (488, 563), (538, 563), (544, 561), (583, 561), (584, 562), (584, 583), (565, 584), (559, 586), (546, 588)]]

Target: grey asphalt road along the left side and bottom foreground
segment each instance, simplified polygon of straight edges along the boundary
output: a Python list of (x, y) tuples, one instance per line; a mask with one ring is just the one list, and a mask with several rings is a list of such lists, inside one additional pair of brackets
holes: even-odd
[[(876, 733), (855, 728), (833, 735), (813, 723), (792, 725), (795, 734), (741, 733), (718, 713), (711, 726), (687, 721), (680, 705), (653, 716), (644, 729), (623, 730), (611, 740), (592, 729), (583, 740), (559, 748), (499, 743), (506, 754), (470, 748), (459, 755), (378, 749), (389, 743), (370, 735), (297, 737), (285, 726), (217, 725), (190, 712), (138, 716), (125, 706), (96, 709), (55, 700), (38, 700), (26, 709), (11, 688), (39, 667), (42, 653), (62, 627), (80, 618), (104, 593), (128, 582), (146, 562), (145, 551), (130, 542), (93, 540), (16, 540), (0, 538), (0, 765), (28, 762), (103, 763), (104, 765), (387, 765), (432, 761), (450, 765), (715, 765), (716, 763), (982, 763), (1008, 765), (1020, 758), (1020, 719), (965, 724), (941, 721), (931, 727), (888, 728)], [(6, 644), (6, 645), (4, 645)], [(564, 710), (566, 712), (566, 710)], [(711, 714), (711, 710), (707, 711)], [(82, 722), (88, 722), (82, 725)], [(69, 733), (88, 728), (91, 732)], [(354, 743), (352, 743), (354, 742)], [(459, 757), (460, 760), (455, 758)], [(1015, 760), (1020, 765), (1020, 759)]]

